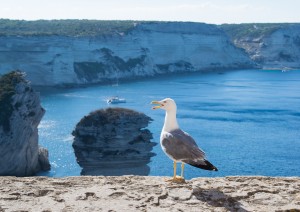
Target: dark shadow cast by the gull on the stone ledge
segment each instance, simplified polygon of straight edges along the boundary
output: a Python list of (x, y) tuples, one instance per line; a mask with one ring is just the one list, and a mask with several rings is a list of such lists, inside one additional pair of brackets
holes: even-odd
[(231, 197), (217, 189), (196, 188), (193, 191), (193, 195), (198, 200), (206, 202), (213, 207), (223, 207), (228, 211), (248, 212), (248, 210), (244, 209), (243, 205), (238, 201), (238, 197)]

